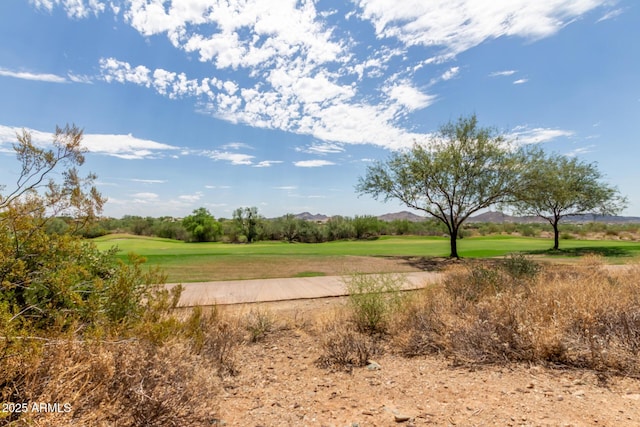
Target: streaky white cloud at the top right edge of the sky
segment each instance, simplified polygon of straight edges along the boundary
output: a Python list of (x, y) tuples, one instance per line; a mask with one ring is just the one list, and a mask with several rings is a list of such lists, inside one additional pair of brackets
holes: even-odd
[(536, 40), (551, 36), (576, 17), (608, 0), (360, 0), (361, 17), (379, 38), (407, 46), (438, 46), (456, 55), (503, 36)]

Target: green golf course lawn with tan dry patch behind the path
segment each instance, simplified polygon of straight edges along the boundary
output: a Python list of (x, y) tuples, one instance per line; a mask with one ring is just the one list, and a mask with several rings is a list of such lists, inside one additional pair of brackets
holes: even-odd
[[(147, 265), (161, 267), (169, 282), (300, 277), (339, 274), (354, 269), (389, 271), (393, 267), (383, 262), (383, 258), (446, 257), (449, 254), (448, 239), (416, 236), (383, 236), (376, 240), (317, 244), (257, 242), (247, 245), (107, 235), (94, 242), (101, 249), (117, 246), (123, 259), (129, 252), (146, 257)], [(601, 254), (609, 262), (640, 257), (639, 242), (562, 240), (561, 251), (556, 253), (548, 252), (552, 244), (550, 239), (485, 236), (459, 240), (458, 251), (465, 258), (499, 257), (512, 252), (557, 260), (575, 259), (585, 253)], [(377, 257), (378, 261), (374, 259), (372, 263), (371, 257)]]

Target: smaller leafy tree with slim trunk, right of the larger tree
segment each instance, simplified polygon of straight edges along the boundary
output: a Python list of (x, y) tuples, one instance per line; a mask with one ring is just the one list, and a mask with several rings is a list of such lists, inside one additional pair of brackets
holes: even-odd
[(568, 215), (615, 215), (626, 206), (618, 190), (602, 182), (596, 164), (539, 148), (527, 153), (522, 185), (513, 203), (519, 214), (536, 215), (553, 227), (553, 249), (560, 245), (558, 224)]

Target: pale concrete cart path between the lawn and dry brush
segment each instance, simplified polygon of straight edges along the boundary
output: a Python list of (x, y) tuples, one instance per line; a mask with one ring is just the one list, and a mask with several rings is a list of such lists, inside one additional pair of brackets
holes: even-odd
[[(440, 279), (441, 273), (403, 273), (404, 289), (419, 289)], [(176, 284), (168, 284), (173, 287)], [(286, 279), (229, 280), (183, 283), (178, 306), (242, 304), (346, 295), (343, 276), (298, 277)]]

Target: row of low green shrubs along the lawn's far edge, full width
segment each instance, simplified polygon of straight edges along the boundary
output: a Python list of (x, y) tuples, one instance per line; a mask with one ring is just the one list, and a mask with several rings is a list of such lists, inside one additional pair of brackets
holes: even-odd
[[(213, 218), (212, 218), (213, 219)], [(56, 218), (48, 225), (50, 233), (64, 233), (70, 228), (69, 219)], [(215, 220), (216, 231), (206, 241), (246, 242), (246, 233), (233, 219)], [(459, 237), (487, 235), (517, 235), (542, 237), (551, 232), (548, 223), (468, 223)], [(585, 238), (592, 234), (618, 238), (637, 238), (640, 224), (607, 224), (588, 222), (560, 225), (562, 239)], [(82, 230), (83, 237), (98, 237), (111, 233), (129, 233), (141, 236), (197, 241), (192, 231), (185, 227), (182, 219), (173, 217), (125, 216), (120, 219), (103, 218)], [(274, 240), (301, 243), (320, 243), (342, 239), (370, 239), (377, 236), (447, 236), (444, 226), (434, 220), (413, 222), (409, 220), (383, 221), (373, 216), (334, 216), (325, 222), (307, 221), (285, 215), (280, 218), (259, 217), (255, 226), (254, 240)]]

